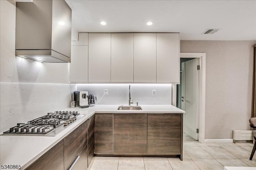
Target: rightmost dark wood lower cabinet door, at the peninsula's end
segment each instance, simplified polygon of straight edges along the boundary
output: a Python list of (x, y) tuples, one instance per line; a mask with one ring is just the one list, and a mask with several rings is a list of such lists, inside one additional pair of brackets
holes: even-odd
[(148, 155), (180, 155), (181, 114), (148, 114)]

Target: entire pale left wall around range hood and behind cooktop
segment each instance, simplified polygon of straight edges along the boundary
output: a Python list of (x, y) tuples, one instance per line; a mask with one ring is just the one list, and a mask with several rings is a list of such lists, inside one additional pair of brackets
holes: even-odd
[(66, 109), (76, 85), (68, 63), (15, 57), (14, 1), (0, 0), (0, 133), (48, 112)]

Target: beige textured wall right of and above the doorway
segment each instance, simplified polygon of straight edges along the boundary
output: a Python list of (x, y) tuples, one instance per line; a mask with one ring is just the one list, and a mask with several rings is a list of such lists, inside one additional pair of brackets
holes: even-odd
[(181, 41), (180, 52), (206, 53), (205, 138), (249, 130), (256, 41)]

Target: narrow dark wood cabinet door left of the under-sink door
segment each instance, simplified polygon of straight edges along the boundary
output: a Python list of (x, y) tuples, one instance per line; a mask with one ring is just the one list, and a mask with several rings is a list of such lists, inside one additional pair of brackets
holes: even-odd
[(113, 154), (113, 114), (96, 113), (94, 121), (95, 154)]

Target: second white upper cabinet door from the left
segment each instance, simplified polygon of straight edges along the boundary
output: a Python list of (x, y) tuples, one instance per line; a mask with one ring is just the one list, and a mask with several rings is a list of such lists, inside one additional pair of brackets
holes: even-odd
[(89, 82), (110, 82), (111, 34), (89, 33)]

